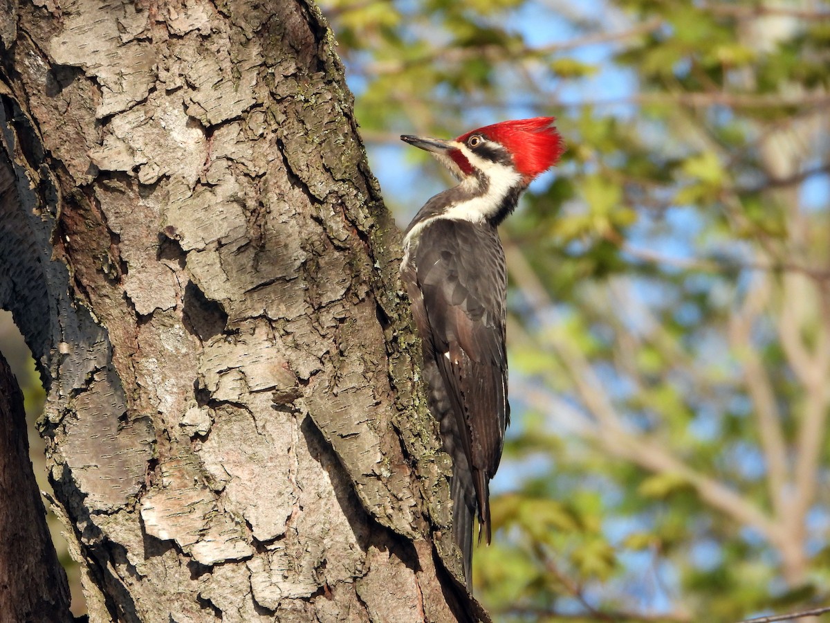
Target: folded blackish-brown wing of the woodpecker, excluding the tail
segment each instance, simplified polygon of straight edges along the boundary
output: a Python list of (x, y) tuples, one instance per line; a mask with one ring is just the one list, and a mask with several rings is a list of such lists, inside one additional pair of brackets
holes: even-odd
[[(427, 231), (427, 228), (429, 231)], [(490, 542), (488, 483), (510, 417), (505, 354), (504, 252), (495, 229), (437, 218), (414, 251), (432, 351), (447, 385)], [(479, 533), (481, 539), (481, 532)]]

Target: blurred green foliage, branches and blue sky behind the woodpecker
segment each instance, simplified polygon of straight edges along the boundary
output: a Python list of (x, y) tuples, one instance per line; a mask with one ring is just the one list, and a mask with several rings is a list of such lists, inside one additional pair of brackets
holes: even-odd
[[(475, 555), (496, 619), (827, 603), (828, 3), (320, 5), (370, 161), (531, 115), (568, 145), (502, 231), (509, 493)], [(412, 214), (440, 187), (403, 163), (444, 173), (398, 157), (378, 174)]]

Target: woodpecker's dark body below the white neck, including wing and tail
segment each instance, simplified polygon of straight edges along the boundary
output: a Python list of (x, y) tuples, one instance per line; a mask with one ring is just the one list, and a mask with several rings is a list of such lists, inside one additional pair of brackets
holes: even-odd
[(496, 228), (428, 220), (407, 240), (401, 275), (422, 338), (430, 409), (453, 459), (453, 535), (469, 583), (473, 515), (489, 542), (488, 483), (509, 418), (507, 274)]

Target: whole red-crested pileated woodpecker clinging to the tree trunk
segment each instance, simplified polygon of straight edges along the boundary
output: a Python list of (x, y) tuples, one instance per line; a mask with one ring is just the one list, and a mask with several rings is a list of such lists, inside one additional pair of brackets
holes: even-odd
[(510, 421), (507, 265), (496, 227), (564, 147), (553, 117), (504, 121), (456, 140), (402, 135), (460, 184), (432, 197), (405, 233), (401, 277), (421, 334), (428, 400), (452, 456), (452, 533), (471, 586), (472, 520), (491, 539), (490, 479)]

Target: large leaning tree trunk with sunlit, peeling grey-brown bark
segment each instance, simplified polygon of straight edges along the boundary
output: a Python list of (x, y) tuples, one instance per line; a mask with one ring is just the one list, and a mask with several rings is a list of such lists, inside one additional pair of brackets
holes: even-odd
[(11, 2), (0, 41), (0, 305), (90, 620), (485, 619), (316, 9)]

